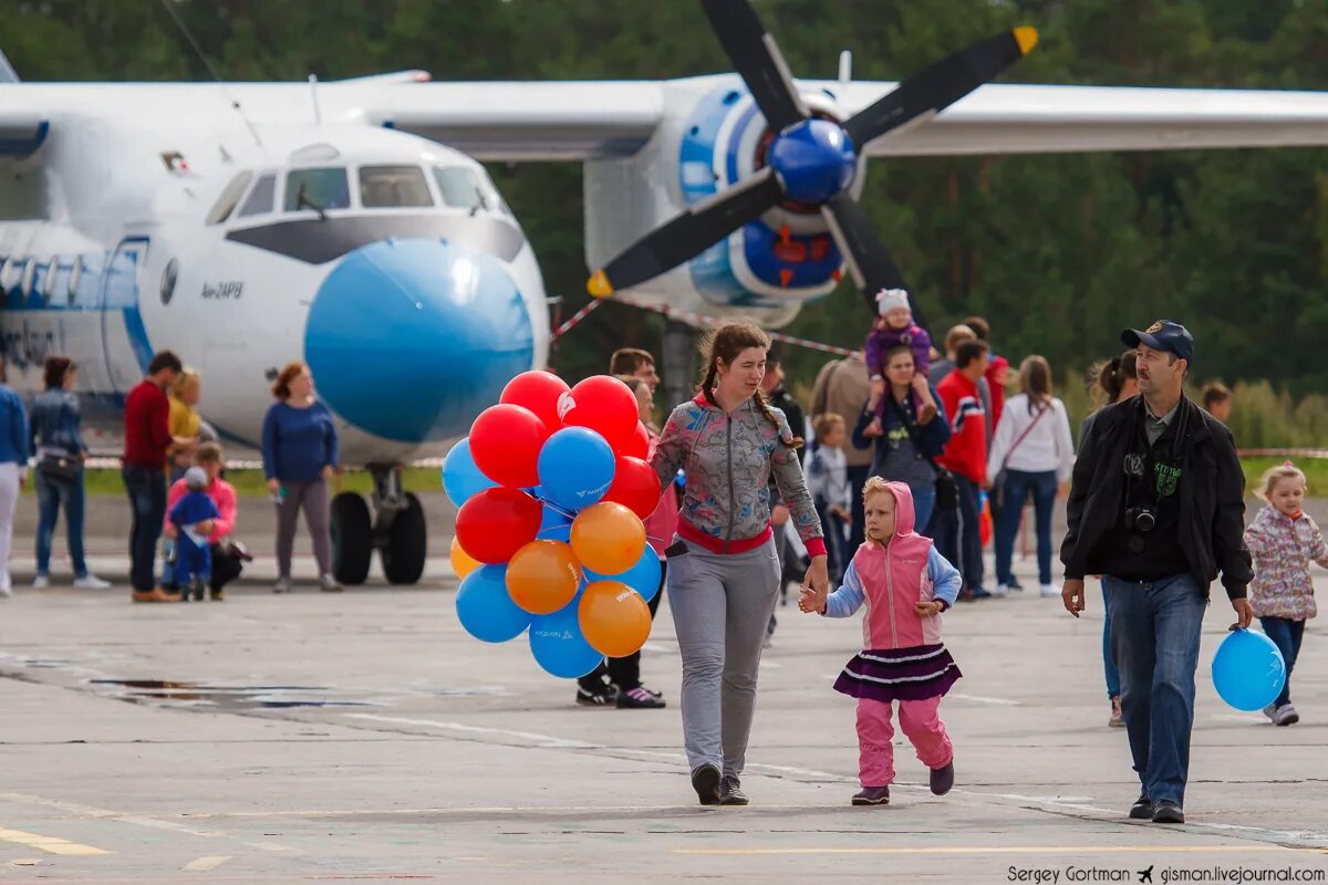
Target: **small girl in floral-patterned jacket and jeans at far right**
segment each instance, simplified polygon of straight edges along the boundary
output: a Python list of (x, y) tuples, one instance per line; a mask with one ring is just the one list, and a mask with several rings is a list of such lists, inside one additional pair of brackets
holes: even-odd
[(1287, 663), (1282, 694), (1263, 713), (1276, 726), (1292, 726), (1300, 722), (1300, 714), (1291, 706), (1291, 670), (1300, 654), (1305, 620), (1317, 613), (1309, 564), (1328, 568), (1328, 545), (1315, 520), (1301, 510), (1305, 475), (1289, 460), (1264, 472), (1259, 491), (1268, 503), (1246, 529), (1246, 547), (1254, 557), (1250, 605)]

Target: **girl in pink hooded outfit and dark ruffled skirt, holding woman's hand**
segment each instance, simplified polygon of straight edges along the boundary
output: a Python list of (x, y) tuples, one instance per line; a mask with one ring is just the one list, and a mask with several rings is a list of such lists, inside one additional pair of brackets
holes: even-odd
[(849, 617), (863, 602), (863, 651), (845, 666), (835, 691), (858, 698), (858, 774), (862, 791), (854, 805), (884, 805), (894, 783), (895, 736), (891, 703), (899, 702), (899, 727), (918, 759), (931, 768), (931, 792), (955, 785), (955, 748), (936, 714), (940, 698), (960, 675), (940, 641), (940, 613), (959, 594), (959, 572), (914, 531), (912, 494), (904, 483), (867, 480), (862, 499), (867, 540), (845, 572), (843, 584), (823, 606), (803, 593), (798, 606), (829, 617)]

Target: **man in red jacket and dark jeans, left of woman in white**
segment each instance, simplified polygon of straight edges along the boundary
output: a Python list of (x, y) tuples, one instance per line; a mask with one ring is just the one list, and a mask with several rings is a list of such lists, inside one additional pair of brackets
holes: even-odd
[(960, 598), (989, 596), (983, 589), (983, 539), (979, 529), (979, 490), (987, 483), (987, 415), (983, 409), (979, 379), (988, 366), (985, 341), (971, 340), (955, 348), (955, 368), (936, 385), (936, 393), (950, 417), (950, 442), (936, 459), (955, 475), (959, 507), (938, 510), (936, 552), (960, 564), (964, 589)]

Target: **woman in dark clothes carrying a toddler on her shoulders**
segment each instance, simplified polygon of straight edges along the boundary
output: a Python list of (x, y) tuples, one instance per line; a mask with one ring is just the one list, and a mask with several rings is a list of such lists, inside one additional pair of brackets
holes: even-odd
[[(935, 387), (914, 370), (912, 350), (903, 345), (891, 348), (886, 352), (884, 369), (884, 433), (875, 438), (871, 475), (908, 486), (916, 531), (930, 537), (928, 523), (936, 506), (936, 456), (950, 441), (950, 421)], [(872, 401), (858, 418), (853, 431), (853, 444), (858, 448), (872, 443), (863, 431), (875, 413), (876, 402)]]

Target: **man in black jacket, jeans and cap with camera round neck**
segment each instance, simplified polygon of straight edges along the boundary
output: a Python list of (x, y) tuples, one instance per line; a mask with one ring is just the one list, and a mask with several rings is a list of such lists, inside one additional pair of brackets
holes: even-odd
[(1194, 338), (1178, 322), (1126, 329), (1139, 395), (1106, 406), (1080, 442), (1061, 547), (1066, 610), (1084, 610), (1084, 576), (1101, 575), (1121, 670), (1121, 709), (1143, 787), (1130, 817), (1185, 823), (1194, 671), (1208, 584), (1222, 573), (1250, 625), (1244, 474), (1231, 431), (1190, 402)]

